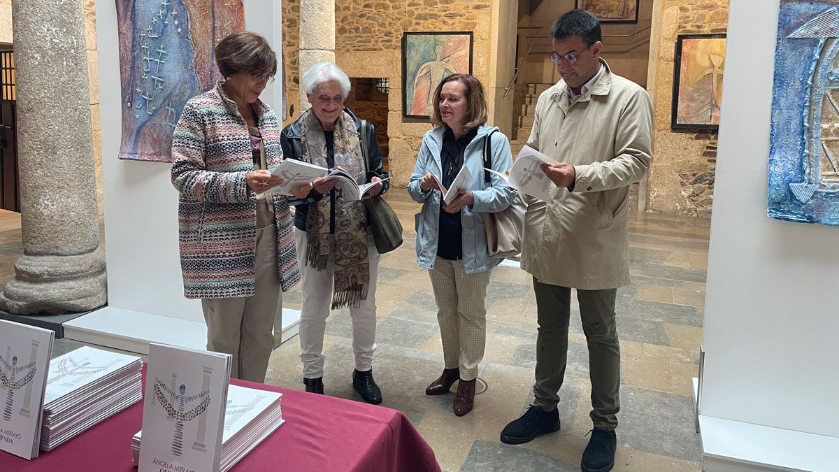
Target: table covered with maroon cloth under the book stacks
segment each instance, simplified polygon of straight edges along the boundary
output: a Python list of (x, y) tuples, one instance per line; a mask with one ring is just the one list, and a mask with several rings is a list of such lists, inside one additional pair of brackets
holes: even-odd
[[(401, 412), (273, 385), (242, 380), (231, 383), (281, 392), (285, 419), (283, 426), (232, 471), (440, 470), (434, 451)], [(142, 422), (143, 401), (138, 401), (31, 461), (0, 451), (0, 470), (136, 472), (131, 437)]]

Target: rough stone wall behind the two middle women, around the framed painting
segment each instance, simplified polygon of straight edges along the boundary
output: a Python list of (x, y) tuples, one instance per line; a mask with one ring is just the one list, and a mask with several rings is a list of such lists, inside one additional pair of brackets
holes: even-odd
[[(472, 73), (487, 89), (495, 87), (496, 74), (491, 62), (493, 24), (498, 25), (498, 5), (502, 0), (336, 0), (336, 62), (348, 76), (388, 78), (388, 150), (393, 186), (406, 186), (414, 170), (423, 134), (431, 128), (428, 120), (402, 116), (402, 36), (406, 31), (473, 31)], [(493, 14), (496, 15), (493, 18)], [(298, 62), (299, 0), (283, 3), (283, 48), (286, 60), (287, 97), (300, 90)], [(514, 22), (514, 18), (509, 18)], [(493, 23), (494, 22), (494, 23)], [(511, 48), (510, 55), (513, 55)], [(509, 80), (509, 79), (507, 79)], [(506, 87), (506, 86), (505, 86)], [(491, 108), (495, 106), (492, 93)], [(512, 110), (512, 97), (510, 109)], [(293, 116), (300, 116), (299, 105)], [(289, 110), (290, 111), (290, 110)], [(492, 113), (492, 110), (491, 110)], [(372, 116), (362, 118), (373, 119)], [(510, 118), (512, 122), (512, 117)], [(508, 129), (512, 123), (507, 123)]]

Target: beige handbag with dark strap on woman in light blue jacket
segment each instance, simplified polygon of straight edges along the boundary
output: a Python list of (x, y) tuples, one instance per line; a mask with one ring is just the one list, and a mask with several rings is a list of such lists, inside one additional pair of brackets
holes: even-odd
[[(492, 131), (492, 133), (495, 133)], [(492, 133), (487, 135), (483, 144), (483, 166), (492, 169)], [(483, 181), (487, 187), (492, 186), (491, 173), (483, 171)], [(500, 212), (482, 213), (483, 228), (487, 233), (487, 253), (491, 257), (507, 258), (519, 257), (522, 249), (524, 232), (524, 211), (527, 204), (517, 192), (510, 206)]]

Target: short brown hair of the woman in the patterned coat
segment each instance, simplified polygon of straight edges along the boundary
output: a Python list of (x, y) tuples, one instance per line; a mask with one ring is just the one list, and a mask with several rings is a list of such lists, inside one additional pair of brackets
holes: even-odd
[(241, 31), (221, 39), (216, 45), (216, 64), (221, 75), (239, 72), (252, 74), (277, 73), (277, 53), (262, 35)]

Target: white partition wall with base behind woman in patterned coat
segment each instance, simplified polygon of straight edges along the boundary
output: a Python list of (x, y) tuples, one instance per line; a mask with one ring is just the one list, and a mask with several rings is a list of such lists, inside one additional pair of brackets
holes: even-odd
[[(263, 34), (278, 50), (282, 7), (273, 0), (244, 2), (245, 29)], [(183, 293), (178, 255), (178, 194), (169, 164), (119, 160), (121, 91), (117, 10), (96, 2), (102, 174), (105, 203), (108, 306), (65, 324), (65, 336), (146, 353), (149, 341), (203, 349), (201, 302)], [(262, 99), (282, 113), (283, 79)], [(296, 333), (300, 312), (284, 310), (284, 339)]]

